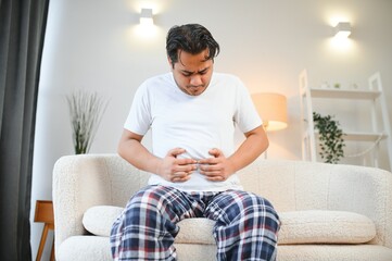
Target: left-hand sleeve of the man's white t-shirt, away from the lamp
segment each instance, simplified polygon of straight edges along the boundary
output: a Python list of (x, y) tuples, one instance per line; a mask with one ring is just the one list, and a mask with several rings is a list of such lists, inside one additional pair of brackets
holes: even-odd
[(136, 91), (124, 128), (129, 132), (144, 135), (151, 126), (151, 104), (147, 83)]

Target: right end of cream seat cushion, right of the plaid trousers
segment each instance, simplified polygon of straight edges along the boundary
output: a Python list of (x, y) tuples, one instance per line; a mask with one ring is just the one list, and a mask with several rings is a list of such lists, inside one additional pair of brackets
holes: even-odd
[(279, 244), (363, 244), (376, 236), (374, 222), (353, 212), (307, 210), (279, 216)]

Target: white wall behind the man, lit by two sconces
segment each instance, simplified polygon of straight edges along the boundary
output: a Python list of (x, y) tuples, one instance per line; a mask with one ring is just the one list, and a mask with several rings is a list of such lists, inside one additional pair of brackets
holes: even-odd
[[(156, 12), (150, 37), (137, 34), (142, 4), (154, 7)], [(216, 71), (237, 74), (251, 92), (287, 96), (289, 127), (269, 135), (268, 158), (298, 160), (298, 76), (303, 69), (308, 70), (313, 85), (336, 80), (355, 82), (361, 87), (370, 74), (380, 71), (388, 100), (392, 99), (391, 10), (389, 0), (52, 0), (36, 125), (34, 257), (42, 229), (41, 224), (33, 223), (35, 202), (51, 199), (53, 164), (61, 156), (73, 153), (65, 101), (73, 89), (93, 89), (110, 98), (90, 152), (116, 152), (135, 89), (147, 77), (169, 70), (165, 54), (167, 29), (175, 24), (201, 23), (222, 46)], [(352, 23), (346, 50), (330, 46), (329, 23), (336, 16)]]

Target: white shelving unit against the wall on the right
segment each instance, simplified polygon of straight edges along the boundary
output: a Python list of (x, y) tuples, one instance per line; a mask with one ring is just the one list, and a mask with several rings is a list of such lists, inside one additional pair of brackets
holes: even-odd
[[(382, 91), (382, 83), (380, 73), (375, 73), (369, 77), (368, 90), (359, 89), (331, 89), (331, 88), (313, 88), (308, 85), (307, 72), (302, 71), (300, 76), (300, 95), (301, 95), (301, 122), (302, 122), (302, 158), (303, 160), (317, 161), (317, 132), (314, 128), (313, 121), (313, 103), (314, 99), (336, 99), (340, 100), (365, 100), (369, 103), (371, 132), (345, 132), (343, 129), (344, 140), (356, 142), (372, 142), (374, 148), (368, 153), (371, 153), (371, 165), (379, 167), (379, 150), (380, 142), (385, 142), (387, 153), (389, 160), (389, 167), (392, 169), (392, 140), (391, 140), (391, 124), (388, 115), (388, 108), (385, 97)], [(379, 111), (377, 111), (379, 109)], [(337, 109), (337, 113), (339, 109)], [(381, 113), (381, 122), (378, 121)]]

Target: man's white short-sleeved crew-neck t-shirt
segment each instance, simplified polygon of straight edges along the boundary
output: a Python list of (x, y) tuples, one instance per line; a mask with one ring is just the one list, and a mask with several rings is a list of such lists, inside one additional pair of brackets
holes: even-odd
[[(235, 152), (235, 127), (242, 133), (262, 125), (251, 97), (232, 75), (213, 73), (203, 94), (189, 96), (167, 73), (147, 79), (136, 91), (124, 127), (144, 135), (150, 128), (152, 153), (164, 158), (170, 149), (184, 148), (178, 156), (200, 160), (211, 158), (208, 150), (220, 149), (225, 157)], [(210, 182), (198, 171), (185, 183), (172, 183), (152, 174), (150, 185), (165, 185), (187, 191), (241, 189), (237, 174), (225, 182)]]

